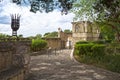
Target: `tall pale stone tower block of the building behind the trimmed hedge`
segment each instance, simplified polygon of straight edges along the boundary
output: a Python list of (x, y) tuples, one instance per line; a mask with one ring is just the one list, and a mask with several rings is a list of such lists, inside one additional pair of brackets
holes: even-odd
[(92, 22), (72, 22), (72, 37), (69, 37), (69, 41), (72, 46), (78, 41), (96, 41), (99, 40), (99, 34), (99, 27)]

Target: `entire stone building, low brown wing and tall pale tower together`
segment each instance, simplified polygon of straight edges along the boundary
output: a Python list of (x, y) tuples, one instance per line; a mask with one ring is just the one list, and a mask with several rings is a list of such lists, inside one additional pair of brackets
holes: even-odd
[(100, 30), (97, 25), (89, 21), (72, 22), (72, 33), (64, 33), (58, 28), (57, 38), (45, 38), (48, 47), (52, 49), (72, 48), (78, 41), (99, 40)]

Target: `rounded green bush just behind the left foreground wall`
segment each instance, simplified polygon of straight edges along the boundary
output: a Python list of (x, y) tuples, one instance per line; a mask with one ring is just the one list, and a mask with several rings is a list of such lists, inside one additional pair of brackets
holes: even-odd
[(33, 39), (31, 49), (33, 51), (39, 51), (47, 47), (47, 42), (42, 39)]

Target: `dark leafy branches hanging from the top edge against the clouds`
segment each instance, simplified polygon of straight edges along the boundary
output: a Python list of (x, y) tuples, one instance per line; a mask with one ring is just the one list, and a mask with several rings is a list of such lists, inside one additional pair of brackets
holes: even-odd
[[(62, 14), (67, 14), (68, 10), (72, 8), (72, 4), (75, 1), (76, 0), (28, 0), (31, 6), (31, 12), (36, 13), (37, 11), (45, 11), (48, 13), (56, 8), (61, 8)], [(12, 2), (17, 5), (22, 4), (22, 2), (26, 3), (25, 0), (12, 0)]]

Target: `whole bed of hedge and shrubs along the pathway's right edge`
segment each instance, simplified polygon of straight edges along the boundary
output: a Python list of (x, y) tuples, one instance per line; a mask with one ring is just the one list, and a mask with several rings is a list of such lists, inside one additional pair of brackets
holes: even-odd
[[(91, 43), (91, 42), (90, 42)], [(81, 45), (87, 46), (90, 43), (76, 44), (75, 56), (77, 60), (83, 63), (92, 64), (110, 71), (120, 73), (120, 45), (119, 43), (96, 44), (93, 43), (90, 49), (81, 49)], [(117, 44), (117, 45), (116, 45)], [(86, 54), (80, 54), (83, 51)], [(85, 51), (87, 50), (87, 51)]]

